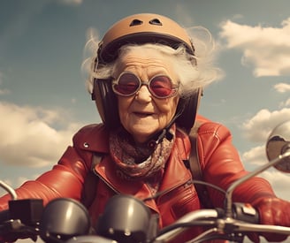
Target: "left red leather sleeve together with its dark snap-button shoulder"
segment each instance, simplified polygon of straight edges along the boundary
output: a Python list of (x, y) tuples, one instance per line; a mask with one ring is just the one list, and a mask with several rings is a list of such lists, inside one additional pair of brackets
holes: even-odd
[[(108, 153), (107, 137), (108, 131), (102, 124), (80, 128), (72, 138), (73, 146), (66, 149), (52, 170), (27, 181), (16, 190), (19, 199), (40, 198), (44, 205), (57, 197), (80, 201), (93, 154)], [(10, 199), (10, 195), (0, 198), (0, 210), (8, 208), (7, 201)]]

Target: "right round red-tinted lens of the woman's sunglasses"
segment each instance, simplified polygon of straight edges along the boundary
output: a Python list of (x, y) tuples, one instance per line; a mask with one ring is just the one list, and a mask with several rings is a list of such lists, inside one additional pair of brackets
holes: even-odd
[(167, 97), (174, 93), (172, 88), (172, 80), (166, 76), (157, 76), (150, 81), (149, 88), (157, 97)]

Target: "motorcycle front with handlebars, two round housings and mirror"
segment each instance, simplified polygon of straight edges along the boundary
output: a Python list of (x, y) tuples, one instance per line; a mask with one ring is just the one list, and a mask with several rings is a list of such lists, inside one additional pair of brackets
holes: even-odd
[[(87, 209), (78, 201), (58, 198), (43, 207), (42, 200), (18, 200), (15, 191), (0, 180), (11, 194), (9, 209), (0, 213), (0, 242), (40, 237), (47, 243), (169, 242), (189, 227), (206, 226), (206, 231), (188, 242), (210, 239), (243, 242), (250, 232), (290, 235), (290, 227), (258, 224), (256, 209), (248, 204), (233, 203), (233, 191), (248, 178), (275, 167), (290, 172), (290, 121), (273, 129), (266, 143), (269, 163), (235, 181), (225, 191), (225, 209), (200, 209), (158, 230), (158, 217), (152, 215), (144, 201), (118, 194), (108, 201), (98, 224), (90, 225)], [(193, 181), (202, 183), (202, 181)]]

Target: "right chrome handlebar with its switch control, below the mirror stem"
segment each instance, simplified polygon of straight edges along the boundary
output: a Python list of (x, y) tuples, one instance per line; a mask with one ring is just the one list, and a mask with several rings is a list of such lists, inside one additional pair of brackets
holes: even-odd
[(234, 217), (226, 217), (223, 209), (201, 209), (190, 212), (176, 223), (164, 227), (152, 242), (168, 242), (192, 226), (207, 226), (210, 230), (190, 242), (203, 242), (209, 239), (234, 240), (235, 234), (240, 239), (240, 233), (246, 235), (249, 232), (290, 235), (290, 227), (259, 224), (256, 209), (247, 204), (235, 203), (233, 209)]

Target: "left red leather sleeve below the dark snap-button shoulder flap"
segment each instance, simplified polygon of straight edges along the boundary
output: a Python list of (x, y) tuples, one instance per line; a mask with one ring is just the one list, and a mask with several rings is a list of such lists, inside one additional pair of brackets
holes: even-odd
[[(19, 199), (39, 198), (44, 205), (57, 197), (80, 200), (84, 178), (88, 168), (75, 148), (69, 147), (52, 170), (33, 181), (27, 181), (16, 193)], [(7, 209), (10, 195), (0, 198), (0, 210)]]

